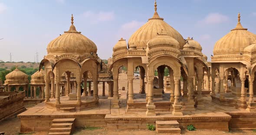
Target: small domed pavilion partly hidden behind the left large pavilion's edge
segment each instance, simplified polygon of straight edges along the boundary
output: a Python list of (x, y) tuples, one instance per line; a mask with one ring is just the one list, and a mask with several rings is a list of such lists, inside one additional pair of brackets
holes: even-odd
[(44, 80), (44, 71), (36, 71), (36, 73), (32, 74), (30, 80), (30, 96), (33, 99), (36, 99), (36, 90), (39, 88), (39, 95), (38, 99), (44, 99), (44, 87), (45, 87), (45, 80)]

